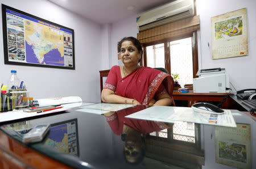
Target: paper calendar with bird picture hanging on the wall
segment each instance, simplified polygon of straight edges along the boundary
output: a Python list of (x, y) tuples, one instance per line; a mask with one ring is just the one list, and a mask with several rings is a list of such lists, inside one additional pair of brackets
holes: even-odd
[(248, 54), (246, 8), (211, 18), (212, 58)]

